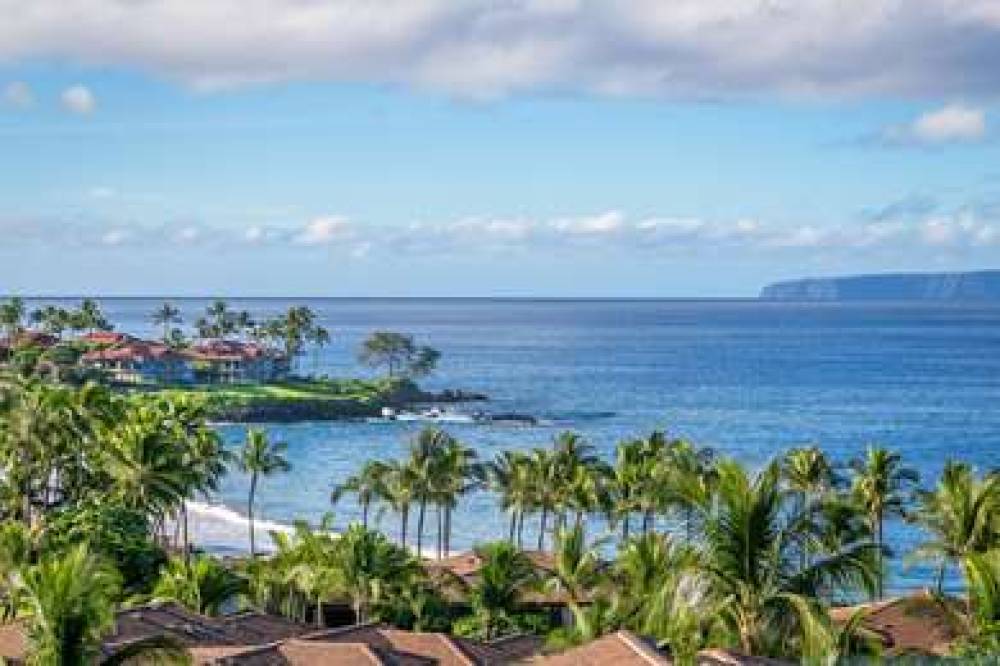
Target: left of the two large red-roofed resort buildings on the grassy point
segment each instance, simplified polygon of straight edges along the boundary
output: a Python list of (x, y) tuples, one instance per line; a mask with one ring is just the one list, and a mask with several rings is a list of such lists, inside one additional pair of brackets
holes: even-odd
[(95, 349), (80, 363), (118, 384), (190, 384), (194, 372), (188, 360), (167, 345), (134, 341)]

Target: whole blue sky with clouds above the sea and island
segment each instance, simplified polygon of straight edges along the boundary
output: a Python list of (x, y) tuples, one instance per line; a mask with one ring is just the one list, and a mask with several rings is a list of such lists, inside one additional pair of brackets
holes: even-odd
[(1000, 267), (997, 0), (0, 0), (0, 294)]

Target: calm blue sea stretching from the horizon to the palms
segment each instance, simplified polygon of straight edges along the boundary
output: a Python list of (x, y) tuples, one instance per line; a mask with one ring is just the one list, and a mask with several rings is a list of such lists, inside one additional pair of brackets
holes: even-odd
[[(153, 334), (159, 299), (106, 299), (118, 329)], [(178, 299), (186, 320), (207, 300)], [(1000, 307), (938, 304), (784, 304), (754, 301), (240, 300), (256, 316), (305, 304), (333, 344), (303, 359), (307, 370), (369, 374), (355, 361), (372, 329), (414, 334), (443, 353), (426, 384), (482, 391), (492, 411), (551, 419), (538, 427), (449, 429), (484, 458), (547, 443), (562, 429), (583, 433), (605, 456), (616, 442), (656, 428), (760, 464), (817, 443), (847, 461), (868, 442), (903, 451), (930, 482), (952, 457), (1000, 466)], [(33, 303), (34, 305), (34, 303)], [(263, 481), (269, 521), (312, 521), (330, 510), (332, 486), (369, 458), (403, 455), (416, 427), (363, 422), (271, 425), (289, 444), (294, 472)], [(221, 426), (234, 445), (241, 426)], [(246, 479), (232, 473), (198, 530), (217, 550), (245, 544)], [(359, 517), (351, 501), (338, 524)], [(431, 522), (431, 521), (428, 521)], [(455, 517), (453, 547), (505, 533), (486, 494)], [(393, 516), (382, 526), (395, 533)], [(898, 554), (919, 540), (890, 530)], [(428, 539), (432, 541), (432, 539)], [(897, 587), (930, 583), (922, 567), (895, 566)]]

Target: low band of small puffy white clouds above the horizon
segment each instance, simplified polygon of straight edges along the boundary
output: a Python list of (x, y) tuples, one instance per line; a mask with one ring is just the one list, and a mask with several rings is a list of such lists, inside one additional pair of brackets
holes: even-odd
[[(914, 200), (916, 201), (916, 200)], [(893, 211), (894, 207), (896, 212)], [(675, 256), (773, 253), (995, 252), (1000, 249), (1000, 209), (892, 204), (841, 225), (775, 225), (753, 219), (697, 217), (630, 218), (621, 211), (553, 219), (468, 217), (452, 221), (372, 225), (344, 215), (314, 218), (298, 226), (218, 227), (182, 222), (67, 224), (48, 219), (2, 219), (10, 247), (89, 247), (103, 251), (157, 252), (206, 248), (212, 252), (326, 253), (369, 257)]]

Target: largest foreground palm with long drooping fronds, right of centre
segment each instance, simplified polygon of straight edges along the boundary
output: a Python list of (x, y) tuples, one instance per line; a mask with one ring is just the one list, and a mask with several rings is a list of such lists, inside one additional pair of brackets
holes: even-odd
[[(700, 566), (726, 600), (720, 618), (746, 654), (787, 653), (808, 643), (820, 626), (817, 602), (823, 591), (874, 586), (875, 545), (848, 544), (802, 566), (793, 557), (797, 503), (780, 487), (781, 468), (772, 462), (756, 475), (726, 460), (706, 509)], [(794, 563), (799, 562), (799, 566)]]

